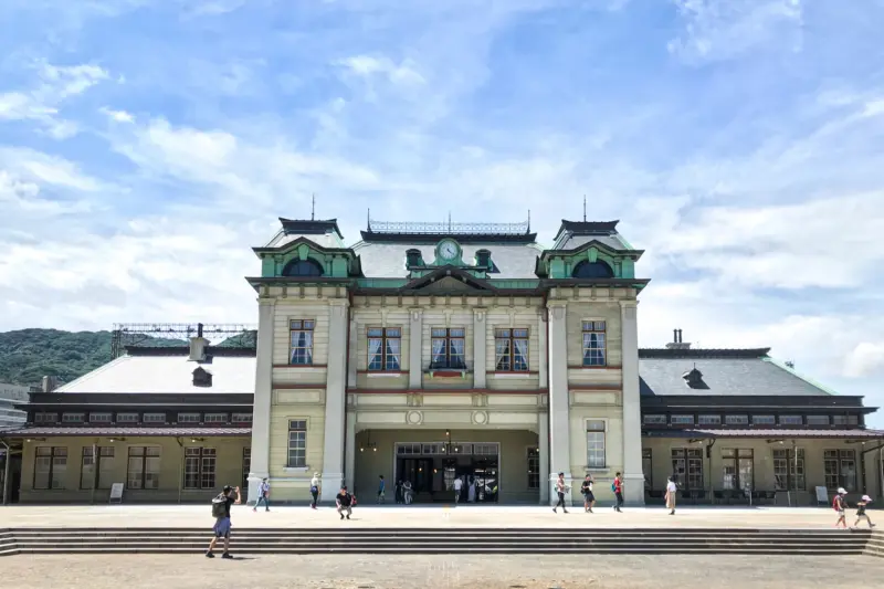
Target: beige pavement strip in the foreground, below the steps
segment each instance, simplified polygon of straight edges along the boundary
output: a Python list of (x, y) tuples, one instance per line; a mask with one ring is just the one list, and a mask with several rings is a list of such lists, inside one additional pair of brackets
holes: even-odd
[(881, 587), (884, 559), (776, 556), (18, 556), (15, 589), (815, 589)]

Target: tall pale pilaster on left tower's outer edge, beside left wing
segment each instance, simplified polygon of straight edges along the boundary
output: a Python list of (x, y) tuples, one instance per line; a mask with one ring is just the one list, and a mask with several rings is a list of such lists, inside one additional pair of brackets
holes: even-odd
[(273, 317), (276, 301), (257, 299), (257, 350), (255, 397), (252, 414), (252, 461), (249, 472), (249, 499), (257, 501), (257, 485), (270, 476), (270, 427), (273, 399)]

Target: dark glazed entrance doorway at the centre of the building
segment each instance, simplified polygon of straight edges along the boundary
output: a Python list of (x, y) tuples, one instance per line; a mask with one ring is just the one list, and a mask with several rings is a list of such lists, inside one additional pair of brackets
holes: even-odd
[(399, 442), (396, 480), (411, 484), (415, 503), (454, 501), (454, 481), (461, 480), (460, 503), (496, 503), (499, 484), (499, 444), (496, 442)]

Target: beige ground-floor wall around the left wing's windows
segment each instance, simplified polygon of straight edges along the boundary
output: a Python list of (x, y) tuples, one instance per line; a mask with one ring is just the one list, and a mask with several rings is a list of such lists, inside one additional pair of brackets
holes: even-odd
[[(183, 448), (213, 448), (217, 451), (215, 488), (200, 491), (181, 491), (182, 502), (209, 501), (220, 492), (223, 485), (242, 486), (243, 450), (249, 448), (249, 438), (208, 438), (191, 443), (190, 439), (181, 439)], [(179, 499), (179, 487), (183, 480), (183, 451), (175, 438), (126, 438), (123, 441), (109, 442), (95, 438), (50, 438), (45, 441), (24, 444), (22, 459), (21, 503), (78, 503), (92, 498), (91, 490), (81, 490), (81, 466), (83, 449), (97, 443), (98, 446), (114, 448), (113, 466), (101, 473), (99, 487), (95, 492), (96, 503), (106, 503), (112, 483), (126, 483), (128, 449), (130, 446), (152, 446), (160, 449), (160, 474), (158, 490), (134, 491), (125, 488), (124, 503), (175, 503)], [(67, 464), (64, 474), (63, 490), (34, 490), (34, 459), (39, 446), (61, 446), (67, 449)], [(107, 473), (107, 474), (106, 474)], [(243, 497), (244, 499), (244, 497)]]

